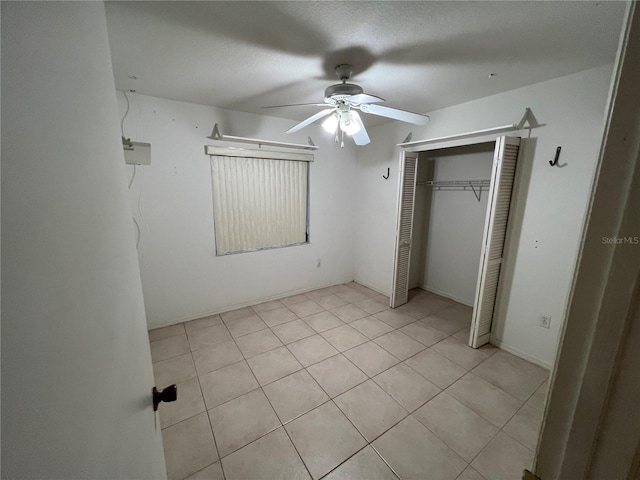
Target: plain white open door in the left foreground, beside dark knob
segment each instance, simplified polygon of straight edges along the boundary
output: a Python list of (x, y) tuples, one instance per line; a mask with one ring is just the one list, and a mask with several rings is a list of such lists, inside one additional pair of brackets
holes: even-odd
[(104, 7), (2, 2), (2, 478), (164, 478)]

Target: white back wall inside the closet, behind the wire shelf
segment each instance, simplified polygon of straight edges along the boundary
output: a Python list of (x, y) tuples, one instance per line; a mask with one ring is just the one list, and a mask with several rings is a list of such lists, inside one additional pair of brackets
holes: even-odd
[[(436, 181), (491, 177), (493, 150), (466, 154), (441, 150), (429, 158), (436, 159)], [(471, 190), (433, 189), (422, 288), (473, 306), (487, 198), (486, 188), (480, 192), (480, 201)]]

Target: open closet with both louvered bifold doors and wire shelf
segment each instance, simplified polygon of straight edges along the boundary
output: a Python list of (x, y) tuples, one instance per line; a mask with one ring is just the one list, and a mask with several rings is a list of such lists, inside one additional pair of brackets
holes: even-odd
[(391, 306), (410, 288), (473, 307), (469, 345), (489, 342), (520, 139), (400, 155)]

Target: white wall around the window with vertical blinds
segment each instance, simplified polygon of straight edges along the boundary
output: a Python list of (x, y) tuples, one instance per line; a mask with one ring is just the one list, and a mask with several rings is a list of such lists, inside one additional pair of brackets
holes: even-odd
[[(295, 122), (127, 95), (125, 136), (151, 143), (151, 165), (137, 167), (131, 190), (149, 327), (353, 279), (354, 146), (340, 149), (317, 125), (286, 135)], [(118, 98), (123, 115), (124, 93)], [(215, 123), (223, 134), (294, 143), (310, 135), (320, 146), (310, 165), (310, 244), (216, 257), (204, 154), (204, 145), (216, 143), (206, 138)]]

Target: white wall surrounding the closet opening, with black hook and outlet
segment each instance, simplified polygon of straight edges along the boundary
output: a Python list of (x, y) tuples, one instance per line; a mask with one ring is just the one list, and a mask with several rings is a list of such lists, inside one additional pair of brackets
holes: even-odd
[[(356, 281), (391, 291), (399, 156), (393, 145), (409, 131), (420, 139), (514, 123), (531, 107), (544, 126), (523, 142), (494, 341), (549, 366), (576, 262), (611, 71), (611, 65), (602, 66), (431, 112), (426, 127), (393, 123), (372, 129), (374, 141), (358, 151)], [(568, 165), (552, 168), (548, 161), (559, 145), (560, 163)], [(388, 181), (380, 177), (387, 167)], [(541, 314), (553, 317), (550, 329), (538, 326)]]

